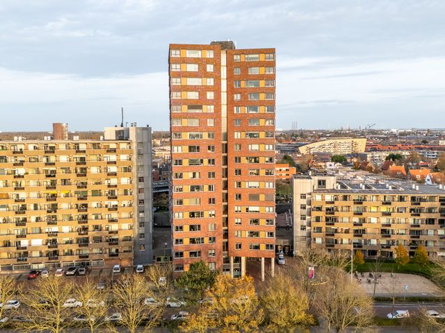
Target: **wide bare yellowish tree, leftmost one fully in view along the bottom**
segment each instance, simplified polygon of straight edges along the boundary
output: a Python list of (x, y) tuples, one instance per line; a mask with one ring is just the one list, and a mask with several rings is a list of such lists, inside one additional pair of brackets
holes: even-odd
[(72, 316), (72, 309), (63, 304), (72, 294), (72, 283), (54, 275), (22, 289), (20, 298), (27, 307), (20, 307), (19, 313), (25, 320), (17, 327), (26, 332), (62, 332)]

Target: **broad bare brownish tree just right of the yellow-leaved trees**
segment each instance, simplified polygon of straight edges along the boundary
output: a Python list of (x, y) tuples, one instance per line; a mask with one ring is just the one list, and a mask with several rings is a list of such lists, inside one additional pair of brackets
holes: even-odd
[(373, 300), (339, 268), (330, 269), (330, 280), (319, 284), (316, 312), (326, 321), (326, 332), (373, 332)]

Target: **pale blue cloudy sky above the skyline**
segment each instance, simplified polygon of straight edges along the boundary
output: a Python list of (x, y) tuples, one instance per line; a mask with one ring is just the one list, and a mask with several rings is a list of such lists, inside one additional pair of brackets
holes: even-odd
[(443, 0), (0, 0), (0, 130), (168, 130), (168, 44), (277, 49), (277, 127), (445, 128)]

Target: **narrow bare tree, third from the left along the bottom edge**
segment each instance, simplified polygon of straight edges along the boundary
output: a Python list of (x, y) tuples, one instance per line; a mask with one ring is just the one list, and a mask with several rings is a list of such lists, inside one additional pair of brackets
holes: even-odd
[(78, 321), (77, 324), (88, 327), (91, 333), (104, 327), (104, 317), (108, 312), (108, 293), (97, 289), (95, 281), (87, 278), (82, 284), (76, 284), (74, 295), (76, 300), (82, 302), (80, 307), (76, 307), (76, 316), (86, 319), (85, 322)]

